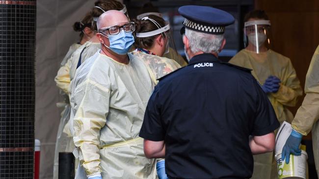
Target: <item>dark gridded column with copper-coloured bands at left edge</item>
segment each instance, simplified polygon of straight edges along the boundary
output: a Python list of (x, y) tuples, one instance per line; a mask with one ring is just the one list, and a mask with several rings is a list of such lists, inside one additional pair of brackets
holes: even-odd
[(36, 0), (0, 0), (0, 179), (33, 179)]

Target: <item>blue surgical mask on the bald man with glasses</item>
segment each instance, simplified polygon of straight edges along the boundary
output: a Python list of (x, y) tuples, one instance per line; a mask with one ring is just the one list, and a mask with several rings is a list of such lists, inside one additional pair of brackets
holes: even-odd
[(109, 35), (109, 47), (106, 46), (106, 48), (109, 48), (113, 52), (125, 55), (129, 52), (131, 46), (134, 44), (134, 37), (132, 35), (132, 32), (125, 32), (123, 29), (121, 29), (121, 32), (116, 35)]

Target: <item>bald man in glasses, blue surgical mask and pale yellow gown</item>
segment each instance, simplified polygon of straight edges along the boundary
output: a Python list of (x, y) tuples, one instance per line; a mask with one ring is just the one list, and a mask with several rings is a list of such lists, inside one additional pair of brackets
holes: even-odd
[(155, 179), (156, 160), (145, 157), (138, 136), (153, 84), (143, 61), (128, 53), (134, 23), (123, 12), (109, 10), (97, 28), (101, 50), (81, 64), (70, 86), (77, 175)]

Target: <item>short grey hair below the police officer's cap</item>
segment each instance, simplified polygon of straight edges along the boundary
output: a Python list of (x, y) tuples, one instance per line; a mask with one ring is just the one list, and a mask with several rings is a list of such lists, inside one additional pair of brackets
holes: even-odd
[(193, 53), (203, 51), (204, 53), (219, 53), (219, 49), (224, 40), (224, 34), (207, 34), (185, 29), (185, 35), (189, 41), (190, 50)]

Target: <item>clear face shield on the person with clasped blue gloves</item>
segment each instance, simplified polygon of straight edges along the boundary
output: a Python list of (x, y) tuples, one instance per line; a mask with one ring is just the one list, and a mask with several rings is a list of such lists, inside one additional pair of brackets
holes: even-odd
[(270, 46), (270, 21), (248, 21), (244, 25), (244, 45), (247, 49), (260, 53)]

